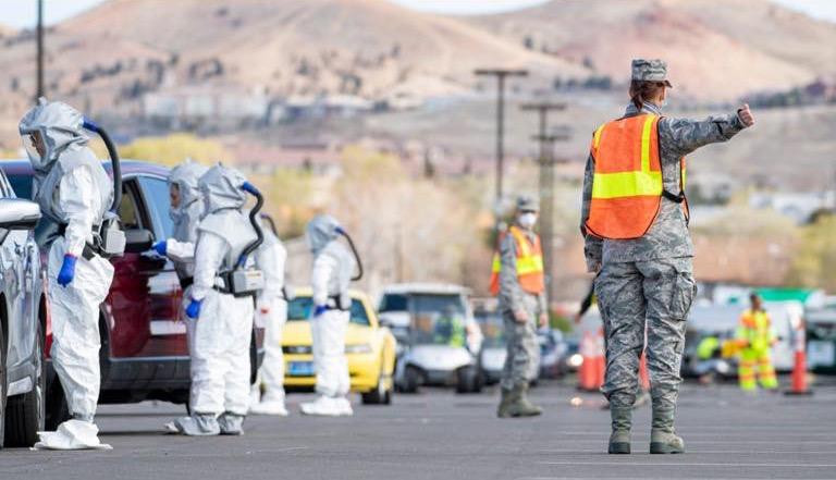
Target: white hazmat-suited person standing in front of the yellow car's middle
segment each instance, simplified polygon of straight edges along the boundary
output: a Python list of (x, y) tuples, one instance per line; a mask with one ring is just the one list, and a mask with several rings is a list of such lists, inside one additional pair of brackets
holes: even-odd
[(345, 357), (345, 333), (352, 300), (348, 284), (359, 259), (339, 242), (345, 234), (330, 216), (317, 216), (308, 223), (307, 237), (314, 254), (311, 286), (314, 308), (310, 330), (314, 340), (314, 367), (317, 372), (316, 401), (302, 405), (305, 415), (349, 416), (351, 379)]

